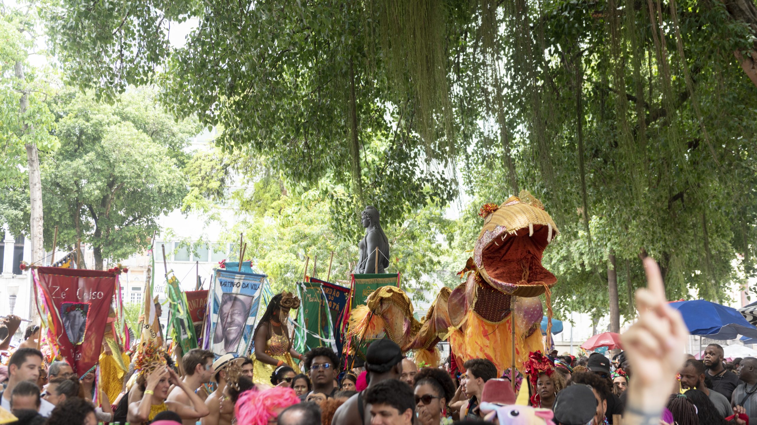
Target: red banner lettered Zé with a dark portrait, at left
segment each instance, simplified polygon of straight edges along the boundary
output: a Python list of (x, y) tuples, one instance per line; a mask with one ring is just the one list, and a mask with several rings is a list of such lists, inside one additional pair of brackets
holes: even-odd
[(107, 271), (59, 267), (39, 267), (34, 275), (60, 354), (81, 377), (98, 362), (118, 277)]

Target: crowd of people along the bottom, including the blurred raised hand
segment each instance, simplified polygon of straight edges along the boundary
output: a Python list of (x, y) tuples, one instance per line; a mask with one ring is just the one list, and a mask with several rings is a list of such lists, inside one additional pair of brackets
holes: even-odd
[[(45, 365), (27, 344), (6, 365), (0, 401), (20, 425), (757, 423), (757, 358), (726, 362), (715, 344), (702, 361), (684, 358), (687, 330), (666, 305), (656, 264), (645, 265), (650, 287), (637, 292), (639, 318), (623, 335), (626, 351), (612, 361), (552, 352), (532, 353), (522, 371), (498, 371), (486, 358), (457, 365), (453, 356), (419, 368), (384, 338), (363, 360), (344, 365), (328, 347), (299, 355), (284, 341), (282, 356), (301, 358), (305, 373), (272, 356), (277, 365), (265, 364), (267, 382), (260, 383), (256, 360), (192, 349), (181, 365), (165, 355), (132, 362), (111, 402), (92, 371), (79, 376), (66, 361)], [(261, 341), (279, 332), (265, 329)]]

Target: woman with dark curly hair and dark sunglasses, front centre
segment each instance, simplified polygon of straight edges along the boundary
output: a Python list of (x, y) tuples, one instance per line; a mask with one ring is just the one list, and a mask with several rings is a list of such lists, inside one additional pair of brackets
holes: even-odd
[(413, 377), (416, 415), (421, 425), (452, 423), (447, 402), (455, 396), (455, 384), (444, 369), (422, 368)]

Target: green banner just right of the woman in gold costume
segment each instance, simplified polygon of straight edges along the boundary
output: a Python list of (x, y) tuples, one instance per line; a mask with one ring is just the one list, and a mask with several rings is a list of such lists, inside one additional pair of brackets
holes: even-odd
[(329, 302), (320, 282), (298, 282), (297, 292), (301, 299), (294, 344), (297, 351), (308, 352), (321, 346), (335, 349)]

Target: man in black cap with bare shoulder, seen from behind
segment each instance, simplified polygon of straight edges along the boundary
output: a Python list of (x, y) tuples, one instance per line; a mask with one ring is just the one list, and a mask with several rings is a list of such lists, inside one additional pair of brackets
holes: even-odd
[[(368, 388), (382, 380), (400, 379), (402, 375), (402, 355), (400, 346), (388, 338), (376, 340), (366, 352), (366, 371), (369, 374)], [(350, 397), (334, 413), (332, 425), (354, 425), (371, 423), (370, 406), (366, 404), (363, 392)]]

